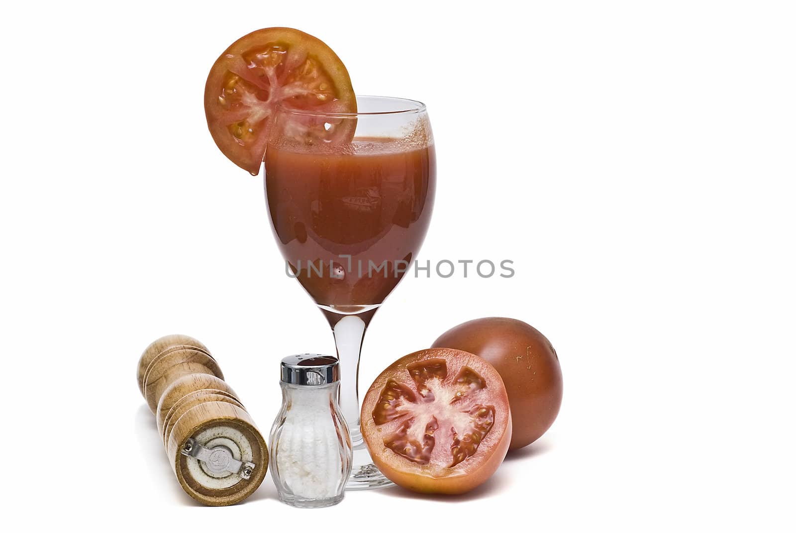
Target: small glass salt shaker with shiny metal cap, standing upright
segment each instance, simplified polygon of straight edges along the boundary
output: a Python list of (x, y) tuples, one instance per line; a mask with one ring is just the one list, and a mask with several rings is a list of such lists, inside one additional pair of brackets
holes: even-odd
[(321, 508), (343, 499), (351, 435), (338, 405), (340, 366), (329, 355), (282, 359), (282, 409), (271, 428), (271, 476), (279, 500)]

